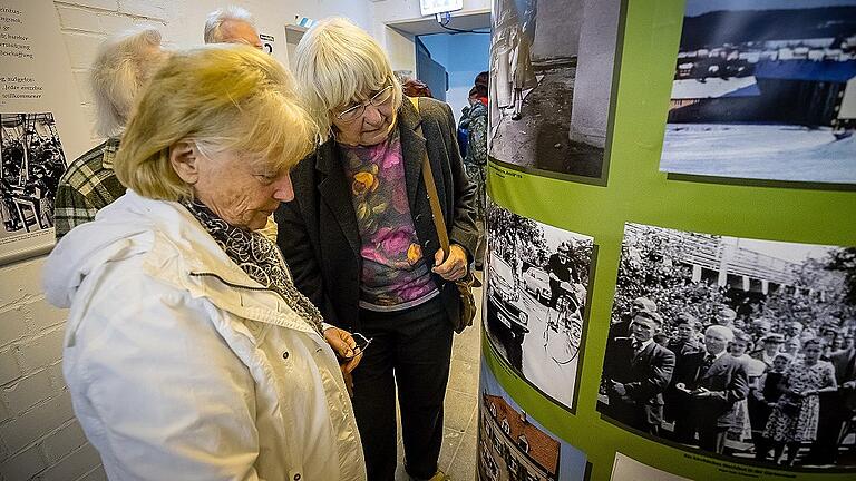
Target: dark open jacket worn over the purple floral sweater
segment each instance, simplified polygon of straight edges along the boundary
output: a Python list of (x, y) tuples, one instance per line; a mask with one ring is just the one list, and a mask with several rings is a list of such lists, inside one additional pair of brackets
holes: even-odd
[[(405, 98), (398, 110), (405, 181), (410, 215), (422, 254), (429, 265), (439, 249), (425, 183), (422, 157), (427, 149), (444, 210), (449, 242), (473, 258), (478, 240), (475, 224), (476, 186), (467, 179), (456, 140), (455, 119), (448, 105), (427, 97), (419, 111)], [(421, 125), (422, 136), (416, 132)], [(321, 145), (292, 171), (294, 200), (280, 206), (276, 243), (294, 276), (294, 284), (324, 316), (344, 330), (357, 325), (360, 301), (360, 234), (348, 180), (333, 139)], [(454, 283), (432, 274), (450, 318), (456, 318), (460, 300)]]

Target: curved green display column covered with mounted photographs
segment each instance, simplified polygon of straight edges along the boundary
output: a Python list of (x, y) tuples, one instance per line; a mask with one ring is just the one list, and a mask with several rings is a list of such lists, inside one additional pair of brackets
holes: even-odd
[[(494, 7), (479, 479), (854, 479), (856, 0)], [(537, 165), (604, 90), (600, 174)]]

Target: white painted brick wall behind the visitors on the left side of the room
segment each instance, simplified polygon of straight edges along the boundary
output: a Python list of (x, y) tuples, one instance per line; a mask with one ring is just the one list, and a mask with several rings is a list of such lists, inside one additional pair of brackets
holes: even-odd
[[(32, 0), (49, 1), (49, 0)], [(262, 33), (275, 38), (274, 56), (286, 61), (284, 26), (294, 16), (349, 17), (376, 29), (369, 0), (57, 0), (65, 46), (80, 108), (94, 130), (88, 68), (98, 45), (136, 23), (162, 29), (168, 46), (202, 43), (206, 14), (234, 3), (252, 11)], [(0, 480), (95, 481), (106, 479), (98, 453), (74, 419), (62, 379), (65, 311), (45, 302), (45, 258), (0, 267)]]

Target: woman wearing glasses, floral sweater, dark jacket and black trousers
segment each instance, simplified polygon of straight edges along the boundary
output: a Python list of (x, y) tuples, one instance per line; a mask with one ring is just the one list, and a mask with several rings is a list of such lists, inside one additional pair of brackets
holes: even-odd
[[(343, 19), (307, 32), (295, 72), (323, 144), (293, 171), (295, 198), (275, 217), (298, 288), (339, 327), (372, 340), (353, 371), (353, 406), (369, 479), (396, 470), (396, 387), (406, 470), (442, 478), (442, 401), (460, 301), (453, 281), (475, 252), (475, 185), (446, 104), (401, 87), (380, 46)], [(439, 248), (425, 156), (451, 240)]]

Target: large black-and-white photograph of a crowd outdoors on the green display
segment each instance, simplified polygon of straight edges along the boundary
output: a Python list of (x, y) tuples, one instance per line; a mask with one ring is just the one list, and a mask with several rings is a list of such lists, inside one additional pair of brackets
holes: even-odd
[(625, 224), (597, 411), (748, 463), (856, 471), (856, 247)]

